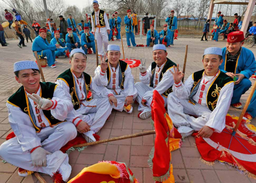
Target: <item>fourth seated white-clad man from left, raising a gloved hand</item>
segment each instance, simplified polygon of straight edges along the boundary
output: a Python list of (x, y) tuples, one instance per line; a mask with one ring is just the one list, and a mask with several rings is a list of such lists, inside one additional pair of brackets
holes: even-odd
[(140, 80), (135, 84), (138, 96), (136, 98), (139, 102), (138, 110), (141, 111), (138, 117), (146, 119), (151, 116), (151, 102), (153, 91), (157, 90), (167, 104), (168, 94), (172, 92), (172, 85), (174, 84), (173, 76), (169, 70), (173, 71), (173, 66), (177, 66), (173, 61), (167, 58), (165, 45), (153, 46), (153, 60), (149, 68), (145, 67), (145, 63), (139, 65)]

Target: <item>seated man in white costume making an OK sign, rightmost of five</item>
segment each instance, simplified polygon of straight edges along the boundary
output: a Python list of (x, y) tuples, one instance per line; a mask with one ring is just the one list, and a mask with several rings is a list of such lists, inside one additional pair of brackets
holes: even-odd
[(168, 113), (183, 138), (194, 130), (199, 131), (199, 136), (209, 138), (213, 132), (221, 133), (224, 129), (234, 81), (219, 70), (222, 61), (221, 48), (207, 48), (203, 55), (204, 69), (190, 75), (184, 84), (179, 65), (172, 72), (175, 84), (168, 96)]

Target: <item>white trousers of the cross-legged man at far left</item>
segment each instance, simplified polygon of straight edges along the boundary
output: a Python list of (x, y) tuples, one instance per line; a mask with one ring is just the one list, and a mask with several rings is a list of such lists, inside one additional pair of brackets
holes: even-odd
[(5, 141), (0, 146), (0, 158), (4, 159), (16, 167), (21, 167), (28, 171), (37, 171), (44, 174), (52, 175), (55, 173), (68, 155), (60, 151), (68, 141), (76, 138), (77, 129), (71, 122), (63, 122), (54, 127), (46, 127), (37, 133), (41, 138), (42, 148), (53, 153), (46, 155), (47, 166), (37, 167), (32, 164), (30, 152), (23, 152), (17, 137)]

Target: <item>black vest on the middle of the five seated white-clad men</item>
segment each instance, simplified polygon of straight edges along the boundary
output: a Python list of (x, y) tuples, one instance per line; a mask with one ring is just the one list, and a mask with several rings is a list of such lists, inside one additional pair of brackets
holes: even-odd
[[(108, 62), (108, 59), (106, 60), (106, 62)], [(120, 61), (119, 60), (119, 76), (118, 76), (118, 81), (119, 81), (119, 87), (121, 89), (124, 89), (124, 72), (126, 71), (126, 69), (128, 68), (128, 64), (124, 61)], [(122, 75), (120, 74), (122, 73)], [(110, 78), (111, 78), (111, 72), (110, 72), (110, 67), (108, 65), (107, 67), (107, 83), (110, 82)]]

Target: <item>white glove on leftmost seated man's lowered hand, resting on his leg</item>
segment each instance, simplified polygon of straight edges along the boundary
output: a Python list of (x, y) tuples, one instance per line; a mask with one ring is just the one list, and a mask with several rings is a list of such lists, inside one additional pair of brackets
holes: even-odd
[(30, 158), (32, 160), (32, 164), (36, 167), (46, 167), (46, 155), (51, 155), (50, 152), (44, 150), (42, 147), (36, 148), (31, 154)]

